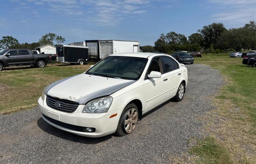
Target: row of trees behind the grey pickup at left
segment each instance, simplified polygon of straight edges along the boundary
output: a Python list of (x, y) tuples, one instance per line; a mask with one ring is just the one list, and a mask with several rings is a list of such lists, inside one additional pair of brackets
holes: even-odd
[[(12, 36), (3, 36), (2, 40), (0, 40), (0, 50), (1, 49), (16, 49), (16, 48), (24, 48), (24, 49), (34, 49), (35, 47), (41, 46), (41, 45), (58, 45), (60, 43), (63, 43), (65, 41), (65, 38), (62, 36), (57, 36), (53, 33), (48, 33), (42, 36), (41, 39), (39, 39), (38, 42), (33, 43), (19, 43), (16, 38), (13, 38)], [(54, 44), (55, 43), (55, 44)]]

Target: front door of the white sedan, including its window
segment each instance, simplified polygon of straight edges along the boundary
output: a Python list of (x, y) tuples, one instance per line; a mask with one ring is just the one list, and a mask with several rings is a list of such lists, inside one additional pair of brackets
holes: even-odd
[(160, 78), (148, 78), (148, 74), (150, 74), (151, 71), (157, 71), (162, 73), (160, 57), (152, 59), (152, 62), (148, 69), (148, 73), (146, 75), (146, 79), (144, 80), (144, 88), (146, 92), (145, 111), (153, 109), (154, 107), (165, 101), (165, 76), (162, 75), (162, 77)]

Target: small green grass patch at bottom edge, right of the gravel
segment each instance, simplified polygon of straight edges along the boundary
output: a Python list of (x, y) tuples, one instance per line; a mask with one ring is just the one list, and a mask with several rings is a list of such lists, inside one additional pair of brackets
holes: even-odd
[(198, 140), (196, 146), (190, 148), (191, 154), (197, 155), (196, 160), (200, 164), (230, 164), (230, 154), (212, 136), (207, 136), (203, 140)]

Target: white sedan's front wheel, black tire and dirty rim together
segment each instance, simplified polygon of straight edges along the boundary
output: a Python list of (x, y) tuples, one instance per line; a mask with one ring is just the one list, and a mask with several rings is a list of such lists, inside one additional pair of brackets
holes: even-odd
[[(131, 115), (133, 115), (133, 117), (131, 117)], [(119, 119), (119, 122), (116, 128), (115, 135), (124, 136), (126, 134), (132, 133), (136, 128), (136, 124), (138, 122), (138, 115), (139, 115), (138, 107), (134, 103), (128, 104), (124, 108), (124, 111), (121, 114), (121, 117)]]

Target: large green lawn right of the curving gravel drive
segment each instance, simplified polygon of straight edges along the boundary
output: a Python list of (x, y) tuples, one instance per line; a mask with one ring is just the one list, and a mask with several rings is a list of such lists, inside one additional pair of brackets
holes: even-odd
[(228, 54), (203, 55), (196, 63), (210, 65), (227, 78), (222, 95), (217, 98), (230, 99), (240, 108), (246, 108), (256, 124), (256, 68), (242, 64), (242, 58)]

